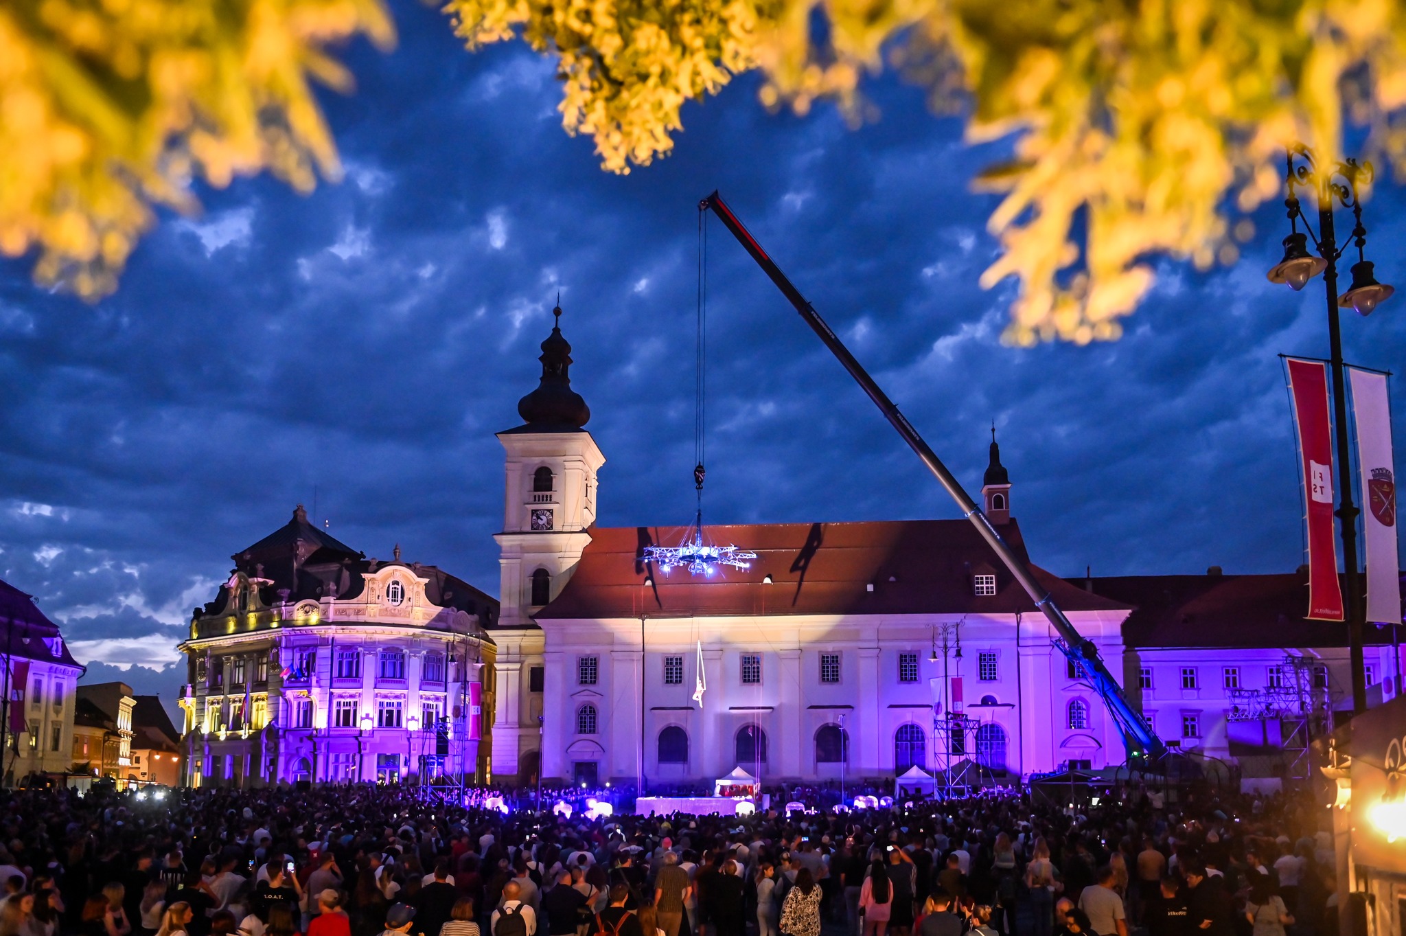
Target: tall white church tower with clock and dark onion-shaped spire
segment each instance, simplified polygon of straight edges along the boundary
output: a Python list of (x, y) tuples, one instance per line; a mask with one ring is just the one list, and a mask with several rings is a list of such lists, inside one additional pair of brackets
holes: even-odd
[(544, 635), (531, 614), (571, 578), (596, 521), (596, 472), (606, 458), (583, 427), (591, 408), (571, 389), (571, 344), (557, 322), (541, 343), (541, 382), (517, 401), (523, 424), (498, 433), (506, 454), (499, 547), (498, 711), (494, 774), (529, 783), (540, 769), (547, 677)]

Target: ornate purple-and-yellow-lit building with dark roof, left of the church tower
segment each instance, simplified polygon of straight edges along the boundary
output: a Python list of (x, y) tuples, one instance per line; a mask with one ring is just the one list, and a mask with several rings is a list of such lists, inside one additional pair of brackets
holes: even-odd
[(367, 559), (299, 505), (233, 557), (180, 645), (186, 783), (491, 774), (498, 603), (399, 554)]

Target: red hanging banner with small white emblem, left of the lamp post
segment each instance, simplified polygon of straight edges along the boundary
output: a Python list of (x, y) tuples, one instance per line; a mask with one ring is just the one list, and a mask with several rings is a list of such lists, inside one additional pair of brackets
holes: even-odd
[(1288, 358), (1294, 422), (1303, 469), (1303, 516), (1309, 541), (1309, 613), (1319, 621), (1343, 620), (1333, 523), (1333, 426), (1327, 417), (1327, 365)]

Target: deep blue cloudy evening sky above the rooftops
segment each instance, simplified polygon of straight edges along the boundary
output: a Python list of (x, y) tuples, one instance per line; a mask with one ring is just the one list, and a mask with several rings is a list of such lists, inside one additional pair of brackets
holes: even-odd
[[(1320, 280), (1295, 295), (1264, 278), (1278, 205), (1237, 267), (1163, 263), (1121, 342), (1014, 350), (998, 340), (1014, 284), (976, 284), (994, 200), (970, 178), (1001, 148), (963, 146), (921, 90), (872, 82), (880, 115), (851, 129), (824, 107), (768, 114), (748, 76), (685, 110), (671, 157), (619, 177), (562, 132), (550, 60), (470, 55), (436, 11), (394, 8), (396, 51), (350, 46), (359, 91), (323, 96), (340, 184), (201, 191), (204, 215), (165, 216), (91, 306), (35, 288), (32, 259), (0, 264), (0, 578), (63, 624), (87, 682), (172, 700), (184, 666), (159, 668), (190, 610), (299, 502), (367, 555), (401, 544), (496, 593), (494, 433), (520, 422), (558, 290), (609, 460), (602, 523), (688, 523), (696, 205), (713, 188), (973, 493), (995, 422), (1036, 564), (1303, 561), (1277, 354), (1326, 356), (1327, 337)], [(1406, 280), (1403, 218), (1381, 186), (1367, 225), (1385, 282)], [(716, 221), (709, 290), (707, 521), (956, 516)], [(1402, 368), (1402, 298), (1343, 320), (1350, 360)]]

